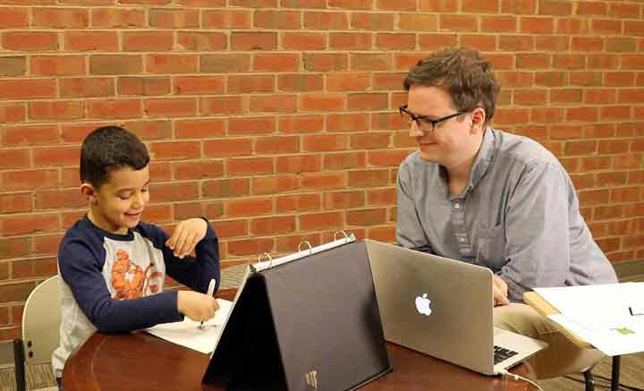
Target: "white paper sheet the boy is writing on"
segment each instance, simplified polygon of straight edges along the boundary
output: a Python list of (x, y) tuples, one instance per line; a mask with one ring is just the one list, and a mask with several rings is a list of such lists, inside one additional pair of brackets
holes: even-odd
[(204, 322), (204, 325), (208, 326), (205, 330), (199, 328), (200, 322), (186, 317), (182, 322), (162, 323), (146, 328), (145, 331), (174, 344), (181, 344), (205, 354), (211, 353), (215, 350), (218, 335), (233, 306), (233, 302), (227, 300), (216, 299), (216, 302), (219, 304), (219, 310), (216, 311), (215, 318)]

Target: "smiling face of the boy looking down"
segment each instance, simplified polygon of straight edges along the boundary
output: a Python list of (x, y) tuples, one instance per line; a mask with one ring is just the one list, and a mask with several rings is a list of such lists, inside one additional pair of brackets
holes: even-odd
[(81, 191), (89, 198), (89, 219), (98, 227), (114, 233), (127, 234), (140, 222), (149, 200), (149, 168), (131, 167), (111, 171), (107, 182), (95, 189), (83, 183)]

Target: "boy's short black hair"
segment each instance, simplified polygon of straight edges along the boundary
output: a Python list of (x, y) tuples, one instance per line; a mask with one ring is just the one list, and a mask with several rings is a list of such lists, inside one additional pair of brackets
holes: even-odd
[(148, 166), (145, 144), (131, 132), (118, 126), (103, 126), (90, 132), (80, 149), (80, 182), (95, 188), (107, 182), (116, 168), (140, 170)]

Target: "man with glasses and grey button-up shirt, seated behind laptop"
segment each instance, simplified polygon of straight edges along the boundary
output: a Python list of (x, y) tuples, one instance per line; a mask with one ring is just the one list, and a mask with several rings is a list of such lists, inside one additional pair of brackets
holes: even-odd
[(575, 347), (521, 302), (538, 286), (617, 282), (563, 166), (537, 142), (489, 127), (499, 87), (475, 50), (430, 55), (404, 87), (400, 112), (418, 149), (398, 172), (397, 241), (490, 268), (495, 325), (550, 344), (531, 361), (538, 378), (596, 363), (601, 353)]

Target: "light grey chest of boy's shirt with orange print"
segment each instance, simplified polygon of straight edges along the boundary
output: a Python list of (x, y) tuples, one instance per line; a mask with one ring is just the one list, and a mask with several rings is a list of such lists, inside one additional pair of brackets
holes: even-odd
[(103, 276), (114, 300), (131, 300), (163, 291), (163, 254), (148, 238), (134, 233), (133, 241), (104, 240)]

